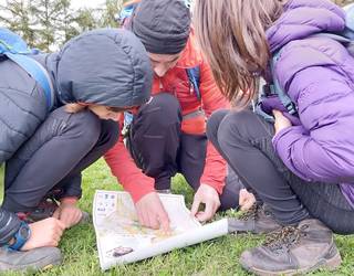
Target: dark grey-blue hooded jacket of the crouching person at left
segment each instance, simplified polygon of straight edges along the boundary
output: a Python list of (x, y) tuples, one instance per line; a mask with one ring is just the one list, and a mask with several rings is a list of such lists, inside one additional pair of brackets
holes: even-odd
[[(75, 102), (137, 106), (149, 99), (149, 59), (140, 41), (128, 31), (90, 31), (69, 41), (59, 53), (33, 59), (52, 78), (54, 108)], [(0, 164), (13, 156), (46, 116), (41, 86), (15, 63), (0, 56)], [(14, 214), (0, 209), (0, 246), (19, 225)]]

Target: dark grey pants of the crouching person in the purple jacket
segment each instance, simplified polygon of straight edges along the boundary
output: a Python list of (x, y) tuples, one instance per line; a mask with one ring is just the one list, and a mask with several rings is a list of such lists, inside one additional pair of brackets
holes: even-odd
[(280, 223), (312, 216), (335, 233), (354, 233), (354, 210), (340, 185), (306, 182), (293, 174), (277, 156), (273, 136), (273, 125), (250, 110), (219, 110), (208, 121), (208, 138)]

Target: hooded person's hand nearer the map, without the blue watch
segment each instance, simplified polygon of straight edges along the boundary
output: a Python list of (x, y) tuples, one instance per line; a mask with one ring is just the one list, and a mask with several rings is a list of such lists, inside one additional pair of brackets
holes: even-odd
[(76, 225), (82, 217), (82, 211), (76, 206), (76, 201), (65, 201), (63, 199), (53, 214), (53, 217), (63, 222), (66, 229)]

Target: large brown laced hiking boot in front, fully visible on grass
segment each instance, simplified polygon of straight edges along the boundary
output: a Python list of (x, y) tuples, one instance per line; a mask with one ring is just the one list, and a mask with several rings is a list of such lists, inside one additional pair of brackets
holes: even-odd
[(341, 262), (332, 231), (313, 219), (270, 233), (263, 245), (240, 257), (243, 268), (267, 276), (304, 274), (320, 267), (334, 269)]

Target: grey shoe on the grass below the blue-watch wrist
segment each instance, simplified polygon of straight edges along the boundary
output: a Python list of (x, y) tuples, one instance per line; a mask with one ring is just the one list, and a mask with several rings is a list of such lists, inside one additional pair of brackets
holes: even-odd
[(61, 262), (62, 255), (56, 247), (40, 247), (31, 251), (11, 251), (0, 247), (0, 273), (49, 269)]

